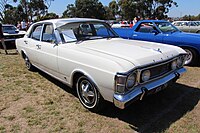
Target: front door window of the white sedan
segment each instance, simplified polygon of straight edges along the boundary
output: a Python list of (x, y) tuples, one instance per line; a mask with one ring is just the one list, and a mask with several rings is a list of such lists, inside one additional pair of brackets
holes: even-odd
[(56, 37), (53, 30), (52, 24), (44, 25), (44, 30), (42, 33), (42, 41), (44, 42), (54, 42), (56, 41)]

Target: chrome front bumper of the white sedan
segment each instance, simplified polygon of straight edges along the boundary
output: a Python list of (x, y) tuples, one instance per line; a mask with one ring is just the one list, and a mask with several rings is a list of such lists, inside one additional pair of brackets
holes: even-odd
[(118, 108), (124, 109), (126, 106), (134, 102), (135, 100), (142, 99), (144, 94), (156, 93), (162, 88), (166, 87), (166, 85), (173, 80), (178, 79), (184, 72), (186, 72), (185, 68), (181, 68), (176, 72), (173, 72), (167, 76), (164, 76), (160, 79), (151, 81), (146, 84), (141, 84), (136, 86), (132, 91), (127, 94), (114, 94), (114, 104)]

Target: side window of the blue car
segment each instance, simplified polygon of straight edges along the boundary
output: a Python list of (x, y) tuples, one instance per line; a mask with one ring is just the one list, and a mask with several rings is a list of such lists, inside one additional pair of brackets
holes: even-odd
[(141, 23), (136, 29), (137, 32), (152, 33), (155, 30), (152, 23)]

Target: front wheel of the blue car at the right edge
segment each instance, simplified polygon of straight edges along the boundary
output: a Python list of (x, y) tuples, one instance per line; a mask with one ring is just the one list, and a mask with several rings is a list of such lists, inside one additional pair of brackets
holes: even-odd
[(187, 52), (187, 59), (185, 61), (185, 65), (195, 65), (197, 63), (197, 53), (195, 50), (190, 48), (184, 48), (184, 50)]

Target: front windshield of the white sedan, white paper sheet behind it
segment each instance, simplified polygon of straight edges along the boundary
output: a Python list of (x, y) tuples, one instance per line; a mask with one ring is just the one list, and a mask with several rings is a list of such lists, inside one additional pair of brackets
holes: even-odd
[(67, 23), (57, 29), (64, 42), (118, 37), (104, 22)]

